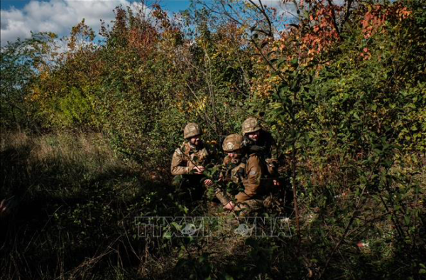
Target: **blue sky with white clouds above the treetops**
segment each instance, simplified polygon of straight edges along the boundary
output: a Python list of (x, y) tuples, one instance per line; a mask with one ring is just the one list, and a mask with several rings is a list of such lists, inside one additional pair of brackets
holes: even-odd
[[(212, 0), (204, 2), (209, 1)], [(155, 2), (158, 1), (145, 1), (148, 6)], [(295, 14), (294, 7), (292, 8), (293, 1), (284, 2), (285, 4), (283, 0), (262, 0), (263, 4), (275, 7), (278, 11)], [(173, 14), (187, 9), (190, 0), (160, 0), (159, 4)], [(31, 31), (53, 32), (59, 37), (68, 36), (72, 26), (80, 23), (82, 18), (97, 33), (101, 26), (100, 19), (107, 23), (114, 20), (113, 10), (119, 5), (130, 6), (136, 10), (140, 9), (141, 0), (0, 0), (0, 43), (4, 46), (7, 41), (29, 38)]]

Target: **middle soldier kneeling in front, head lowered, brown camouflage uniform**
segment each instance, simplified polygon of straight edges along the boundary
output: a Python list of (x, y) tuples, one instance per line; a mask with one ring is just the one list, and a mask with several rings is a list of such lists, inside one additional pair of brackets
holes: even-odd
[(222, 148), (228, 154), (224, 158), (224, 165), (231, 165), (230, 172), (224, 176), (224, 180), (230, 176), (231, 181), (241, 183), (244, 190), (235, 195), (236, 203), (229, 199), (231, 195), (223, 190), (217, 189), (216, 194), (224, 209), (240, 211), (240, 215), (246, 215), (251, 210), (263, 208), (264, 198), (268, 195), (271, 183), (265, 180), (268, 175), (266, 163), (255, 153), (243, 157), (242, 144), (242, 136), (231, 134), (224, 140)]

